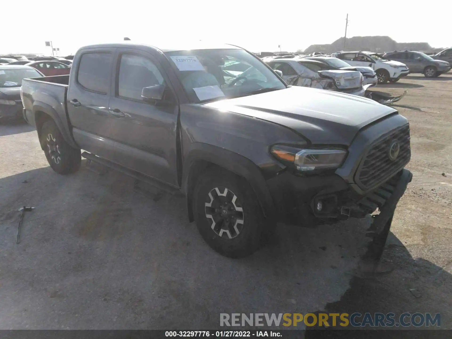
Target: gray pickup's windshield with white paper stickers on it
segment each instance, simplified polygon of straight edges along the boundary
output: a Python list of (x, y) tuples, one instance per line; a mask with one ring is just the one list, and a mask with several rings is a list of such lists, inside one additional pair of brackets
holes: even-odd
[(242, 49), (176, 51), (165, 55), (192, 103), (286, 88), (262, 61)]

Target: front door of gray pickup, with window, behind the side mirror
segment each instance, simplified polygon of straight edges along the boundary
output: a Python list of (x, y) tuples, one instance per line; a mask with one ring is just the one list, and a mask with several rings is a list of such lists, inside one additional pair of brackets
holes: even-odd
[[(170, 80), (151, 53), (129, 48), (115, 56), (109, 113), (114, 161), (178, 187), (176, 133), (179, 104)], [(144, 87), (165, 85), (164, 101), (145, 101)]]

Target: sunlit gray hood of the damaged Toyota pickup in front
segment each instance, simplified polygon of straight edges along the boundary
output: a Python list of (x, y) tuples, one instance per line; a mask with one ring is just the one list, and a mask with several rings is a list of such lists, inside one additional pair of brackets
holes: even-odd
[(372, 99), (300, 86), (204, 105), (286, 126), (313, 144), (346, 146), (361, 128), (396, 112)]

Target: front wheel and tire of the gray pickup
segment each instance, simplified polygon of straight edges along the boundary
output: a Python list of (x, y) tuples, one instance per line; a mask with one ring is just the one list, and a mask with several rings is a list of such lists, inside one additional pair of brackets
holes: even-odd
[(245, 179), (226, 170), (209, 170), (193, 192), (193, 214), (202, 238), (229, 258), (243, 258), (259, 248), (265, 220)]

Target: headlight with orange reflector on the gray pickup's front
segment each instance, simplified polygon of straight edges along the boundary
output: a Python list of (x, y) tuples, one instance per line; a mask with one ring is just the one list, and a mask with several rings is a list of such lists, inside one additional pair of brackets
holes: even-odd
[(341, 149), (299, 149), (285, 145), (272, 146), (270, 153), (282, 163), (295, 166), (302, 172), (336, 169), (347, 155), (347, 151)]

